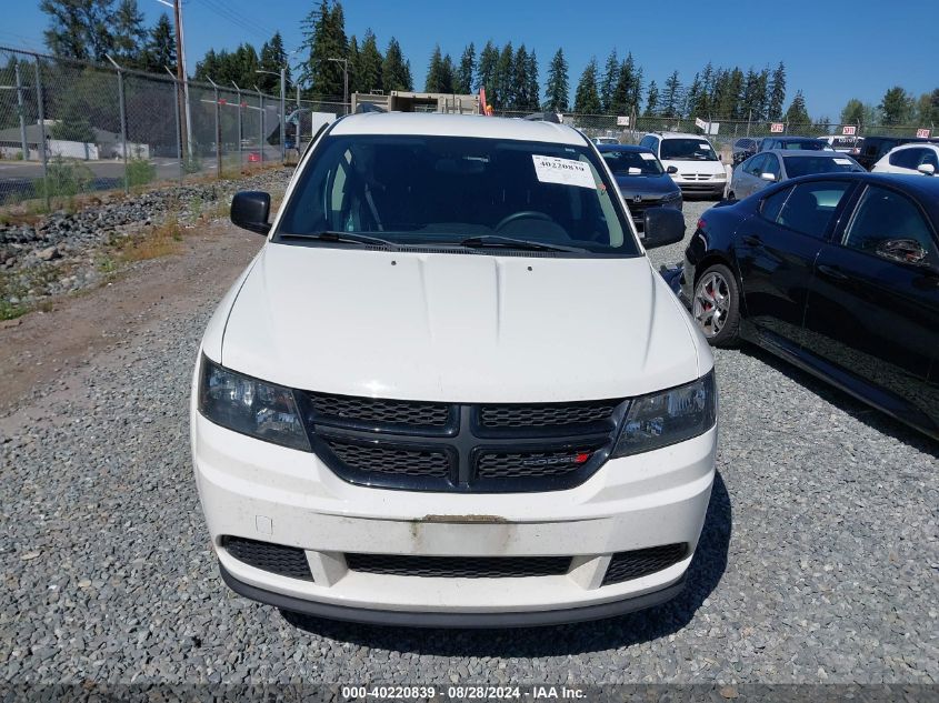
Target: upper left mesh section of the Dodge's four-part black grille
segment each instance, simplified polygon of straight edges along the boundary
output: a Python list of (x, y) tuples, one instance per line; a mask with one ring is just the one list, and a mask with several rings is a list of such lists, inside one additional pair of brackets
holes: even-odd
[(383, 400), (353, 395), (308, 393), (316, 421), (361, 424), (398, 424), (442, 428), (450, 420), (450, 405), (406, 400)]

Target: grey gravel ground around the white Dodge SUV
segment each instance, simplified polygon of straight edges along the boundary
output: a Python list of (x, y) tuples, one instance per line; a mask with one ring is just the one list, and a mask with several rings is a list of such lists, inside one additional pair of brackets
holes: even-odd
[[(690, 225), (708, 204), (686, 207)], [(428, 632), (236, 596), (189, 462), (210, 308), (131, 332), (49, 389), (81, 393), (17, 411), (32, 421), (0, 446), (0, 681), (939, 682), (939, 448), (753, 349), (717, 353), (719, 476), (669, 604)]]

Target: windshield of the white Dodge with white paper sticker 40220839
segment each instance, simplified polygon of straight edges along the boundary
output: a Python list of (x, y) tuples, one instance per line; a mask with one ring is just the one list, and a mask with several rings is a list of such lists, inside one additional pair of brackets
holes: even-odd
[[(427, 135), (327, 135), (276, 237), (342, 245), (322, 232), (396, 245), (472, 245), (638, 255), (615, 185), (587, 147)], [(628, 227), (628, 225), (627, 225)], [(478, 239), (496, 235), (500, 239)], [(350, 244), (354, 245), (354, 243)]]

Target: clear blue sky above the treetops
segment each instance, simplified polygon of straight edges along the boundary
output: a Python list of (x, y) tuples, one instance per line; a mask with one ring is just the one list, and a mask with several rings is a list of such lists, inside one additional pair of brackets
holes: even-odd
[[(434, 43), (457, 59), (473, 41), (479, 49), (525, 42), (538, 53), (541, 80), (558, 47), (570, 64), (571, 88), (596, 56), (632, 51), (646, 82), (659, 86), (672, 70), (682, 82), (708, 61), (716, 66), (786, 63), (787, 104), (795, 89), (805, 92), (813, 118), (837, 120), (849, 98), (878, 103), (895, 84), (916, 96), (939, 87), (938, 0), (818, 2), (643, 2), (571, 0), (346, 0), (346, 31), (359, 37), (371, 28), (384, 47), (398, 38), (423, 87)], [(163, 10), (157, 0), (138, 0), (149, 23)], [(42, 48), (46, 16), (38, 0), (2, 0), (0, 44)], [(260, 44), (279, 29), (288, 51), (301, 42), (300, 20), (318, 0), (183, 0), (189, 70), (210, 47)], [(729, 6), (729, 7), (725, 7)], [(228, 14), (229, 17), (224, 17)], [(233, 21), (231, 16), (241, 18)], [(299, 54), (298, 54), (299, 56)]]

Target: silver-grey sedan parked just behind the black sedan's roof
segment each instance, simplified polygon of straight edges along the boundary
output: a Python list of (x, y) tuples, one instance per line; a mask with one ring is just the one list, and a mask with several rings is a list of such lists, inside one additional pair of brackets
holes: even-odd
[(786, 151), (775, 149), (750, 157), (733, 171), (727, 197), (743, 199), (771, 183), (811, 173), (862, 172), (851, 157), (837, 151)]

